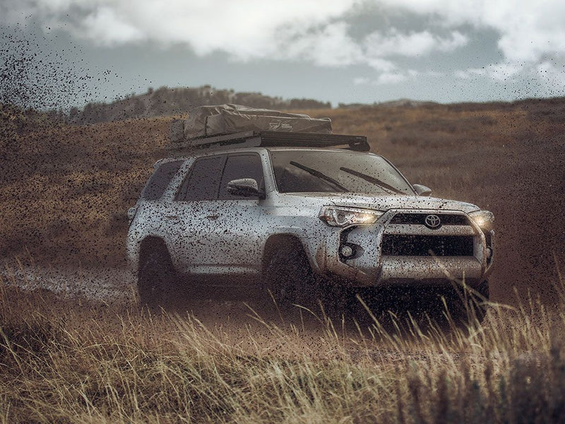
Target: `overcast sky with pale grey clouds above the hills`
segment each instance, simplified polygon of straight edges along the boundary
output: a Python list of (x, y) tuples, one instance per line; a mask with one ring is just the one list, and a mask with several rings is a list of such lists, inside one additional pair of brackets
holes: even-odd
[(77, 105), (204, 84), (334, 106), (565, 95), (563, 0), (1, 0), (0, 25), (87, 77)]

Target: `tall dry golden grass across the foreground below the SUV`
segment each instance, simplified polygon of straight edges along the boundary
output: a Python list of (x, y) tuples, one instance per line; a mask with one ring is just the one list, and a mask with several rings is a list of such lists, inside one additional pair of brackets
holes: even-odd
[(562, 284), (558, 309), (493, 305), (469, 329), (323, 315), (304, 327), (249, 310), (242, 335), (0, 283), (0, 423), (565, 420)]

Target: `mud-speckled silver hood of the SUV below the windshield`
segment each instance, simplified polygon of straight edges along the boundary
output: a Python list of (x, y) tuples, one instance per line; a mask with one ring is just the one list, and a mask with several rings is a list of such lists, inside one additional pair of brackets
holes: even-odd
[(319, 199), (324, 204), (388, 211), (388, 209), (438, 209), (470, 213), (480, 208), (463, 201), (439, 199), (426, 196), (367, 196), (363, 194), (292, 193), (292, 196)]

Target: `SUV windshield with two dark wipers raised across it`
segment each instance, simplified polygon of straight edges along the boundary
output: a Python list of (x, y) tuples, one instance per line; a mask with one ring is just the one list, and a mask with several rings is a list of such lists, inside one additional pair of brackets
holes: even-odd
[(378, 155), (350, 151), (270, 151), (280, 193), (410, 194), (414, 191)]

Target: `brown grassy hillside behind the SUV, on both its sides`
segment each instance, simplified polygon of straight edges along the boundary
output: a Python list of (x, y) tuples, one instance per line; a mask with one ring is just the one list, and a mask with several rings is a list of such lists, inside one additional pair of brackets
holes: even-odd
[[(411, 182), (496, 216), (494, 298), (516, 285), (552, 298), (565, 263), (565, 100), (307, 110), (366, 134)], [(167, 118), (46, 129), (0, 163), (0, 254), (48, 264), (124, 264), (126, 210), (157, 158)], [(29, 252), (29, 253), (28, 253)]]

